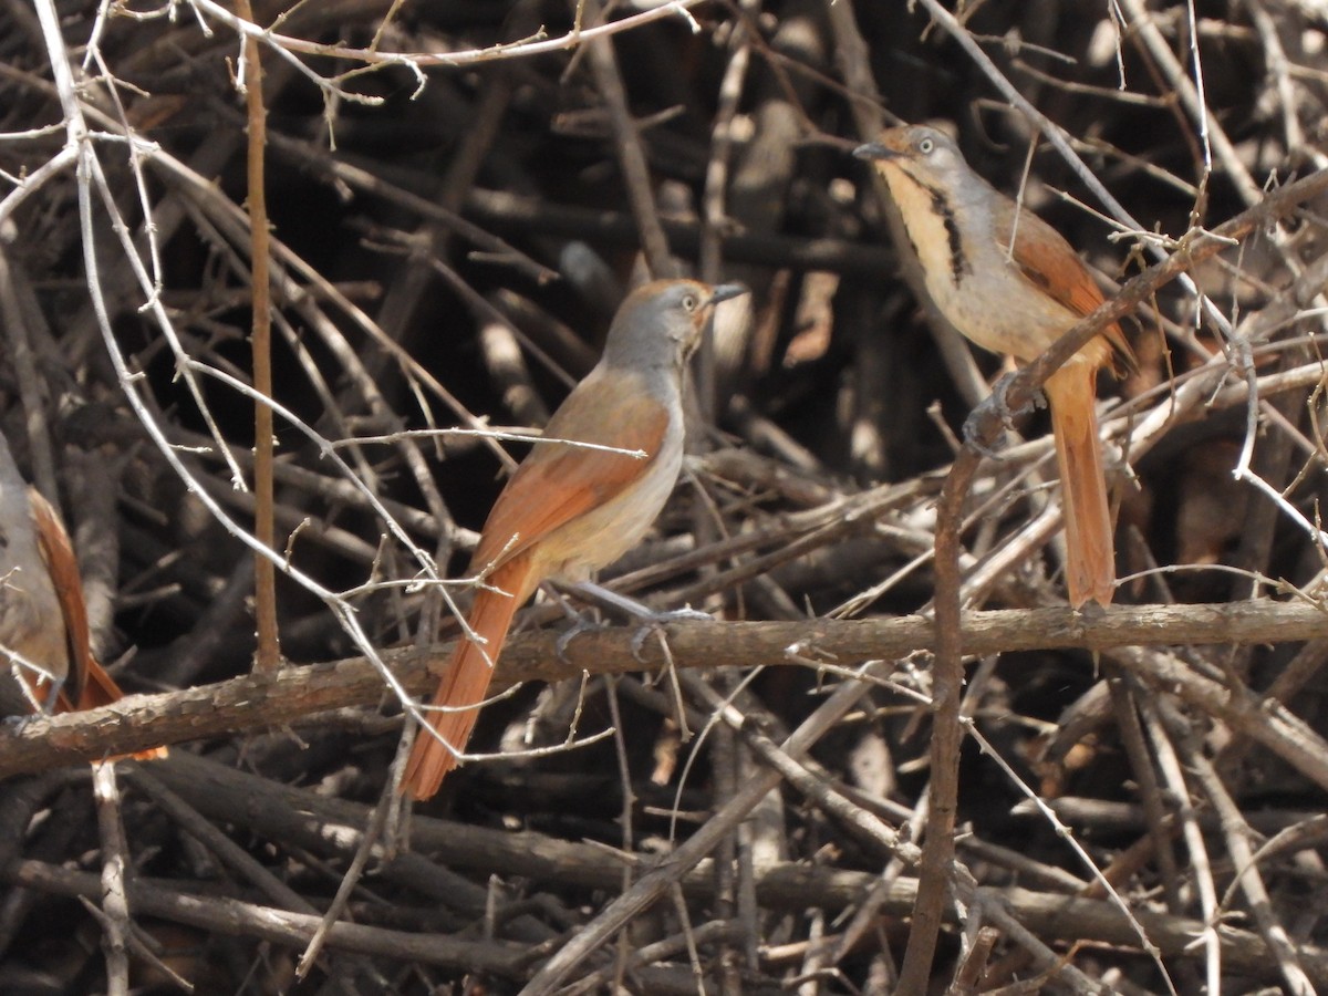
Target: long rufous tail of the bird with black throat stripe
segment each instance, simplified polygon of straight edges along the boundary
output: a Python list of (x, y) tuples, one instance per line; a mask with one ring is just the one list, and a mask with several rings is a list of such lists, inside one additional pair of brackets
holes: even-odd
[(1093, 410), (1096, 378), (1093, 364), (1072, 359), (1044, 385), (1064, 490), (1065, 584), (1074, 608), (1090, 599), (1109, 606), (1116, 594), (1112, 509)]

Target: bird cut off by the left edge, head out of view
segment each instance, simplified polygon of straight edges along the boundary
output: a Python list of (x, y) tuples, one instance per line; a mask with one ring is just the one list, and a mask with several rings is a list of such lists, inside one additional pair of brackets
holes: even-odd
[[(29, 487), (0, 433), (0, 714), (110, 705), (124, 692), (92, 649), (78, 560), (58, 513)], [(166, 748), (131, 754), (166, 756)]]

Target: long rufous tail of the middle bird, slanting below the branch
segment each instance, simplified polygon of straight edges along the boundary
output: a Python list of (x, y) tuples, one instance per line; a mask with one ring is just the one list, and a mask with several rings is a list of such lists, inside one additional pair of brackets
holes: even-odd
[[(479, 718), (479, 709), (466, 709), (485, 700), (489, 681), (493, 679), (493, 663), (498, 660), (507, 629), (517, 610), (530, 594), (530, 562), (518, 556), (494, 571), (486, 584), (475, 595), (467, 619), (470, 628), (483, 640), (482, 644), (465, 636), (452, 653), (448, 671), (434, 692), (433, 705), (445, 705), (448, 712), (428, 713), (429, 725), (456, 750), (465, 750), (470, 730)], [(534, 584), (531, 584), (534, 587)], [(421, 729), (406, 761), (406, 773), (401, 780), (401, 791), (413, 798), (426, 799), (438, 791), (444, 777), (457, 766), (457, 758), (438, 740)]]

